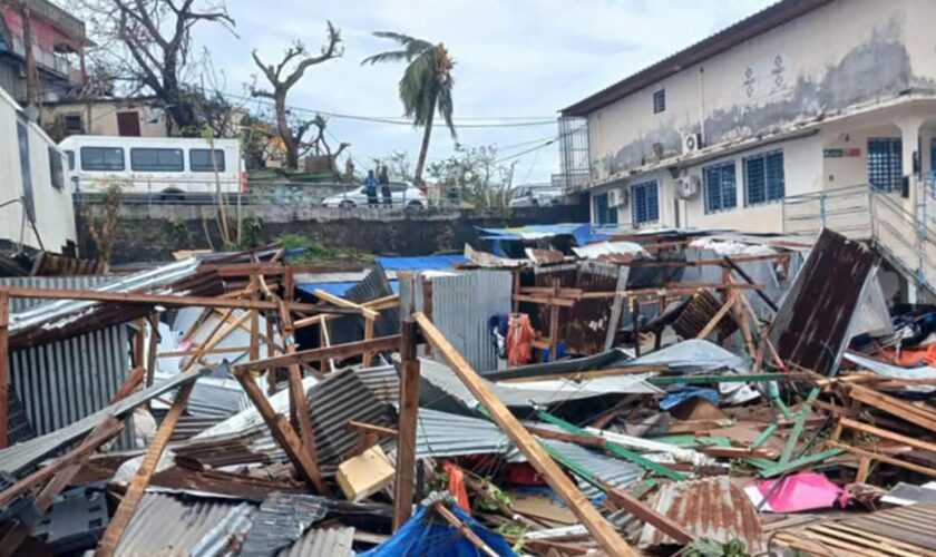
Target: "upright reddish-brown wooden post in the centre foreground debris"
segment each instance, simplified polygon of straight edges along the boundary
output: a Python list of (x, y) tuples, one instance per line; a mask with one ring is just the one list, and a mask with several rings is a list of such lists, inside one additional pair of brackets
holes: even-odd
[(400, 416), (397, 424), (397, 478), (393, 486), (393, 531), (409, 520), (416, 471), (416, 424), (419, 412), (419, 358), (416, 321), (407, 317), (400, 335)]

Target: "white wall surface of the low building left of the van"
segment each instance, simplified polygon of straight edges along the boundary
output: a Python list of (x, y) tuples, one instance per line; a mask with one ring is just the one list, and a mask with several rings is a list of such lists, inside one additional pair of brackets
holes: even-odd
[[(25, 195), (18, 123), (26, 123), (25, 116), (12, 99), (0, 91), (0, 204)], [(68, 242), (77, 240), (71, 189), (67, 175), (64, 187), (52, 187), (49, 147), (55, 147), (55, 143), (36, 124), (27, 124), (27, 133), (36, 227), (45, 248), (60, 252)], [(62, 158), (67, 173), (68, 163), (60, 153), (58, 156)], [(23, 206), (19, 203), (0, 208), (0, 243), (19, 242), (22, 217)], [(23, 243), (35, 248), (41, 247), (39, 238), (29, 226), (23, 235)]]

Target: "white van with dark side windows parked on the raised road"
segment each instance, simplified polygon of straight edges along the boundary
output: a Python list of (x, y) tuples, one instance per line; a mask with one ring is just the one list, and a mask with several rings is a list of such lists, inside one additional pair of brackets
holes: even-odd
[(69, 136), (59, 147), (78, 192), (99, 192), (117, 179), (127, 193), (160, 198), (214, 194), (215, 170), (222, 193), (242, 187), (237, 139), (215, 139), (214, 157), (207, 140), (187, 137)]

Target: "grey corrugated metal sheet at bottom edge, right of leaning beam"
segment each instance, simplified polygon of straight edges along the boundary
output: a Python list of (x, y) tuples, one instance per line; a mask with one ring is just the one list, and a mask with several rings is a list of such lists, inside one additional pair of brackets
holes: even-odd
[(256, 507), (224, 499), (147, 492), (115, 555), (217, 556), (243, 538)]

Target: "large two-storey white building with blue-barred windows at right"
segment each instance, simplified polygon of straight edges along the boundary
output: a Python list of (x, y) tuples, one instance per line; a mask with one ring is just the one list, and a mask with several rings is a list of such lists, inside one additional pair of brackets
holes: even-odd
[(932, 0), (783, 0), (563, 110), (592, 222), (782, 232), (791, 196), (871, 184), (909, 209), (936, 162)]

